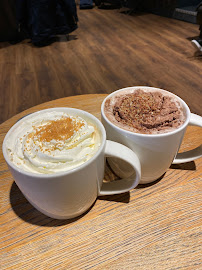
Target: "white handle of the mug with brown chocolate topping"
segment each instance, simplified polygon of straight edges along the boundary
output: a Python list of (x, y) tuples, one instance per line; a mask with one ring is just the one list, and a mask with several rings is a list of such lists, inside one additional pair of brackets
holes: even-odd
[[(191, 113), (189, 125), (202, 127), (202, 117)], [(202, 157), (202, 145), (183, 153), (178, 153), (172, 164), (186, 163)]]

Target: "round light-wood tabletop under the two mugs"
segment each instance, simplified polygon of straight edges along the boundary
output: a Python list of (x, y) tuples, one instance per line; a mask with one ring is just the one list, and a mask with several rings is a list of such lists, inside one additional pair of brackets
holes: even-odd
[[(22, 116), (75, 107), (100, 118), (106, 95), (67, 97), (28, 109), (0, 125), (0, 142)], [(181, 149), (201, 142), (189, 127)], [(38, 212), (13, 181), (0, 152), (0, 269), (202, 269), (202, 159), (172, 165), (130, 193), (99, 197), (83, 216), (55, 220)], [(107, 169), (106, 178), (111, 177)]]

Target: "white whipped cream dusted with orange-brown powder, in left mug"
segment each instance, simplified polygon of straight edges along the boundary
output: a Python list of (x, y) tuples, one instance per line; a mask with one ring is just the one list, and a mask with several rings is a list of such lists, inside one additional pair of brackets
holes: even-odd
[(51, 111), (25, 119), (6, 141), (10, 160), (19, 168), (50, 174), (89, 160), (100, 146), (91, 123), (79, 116)]

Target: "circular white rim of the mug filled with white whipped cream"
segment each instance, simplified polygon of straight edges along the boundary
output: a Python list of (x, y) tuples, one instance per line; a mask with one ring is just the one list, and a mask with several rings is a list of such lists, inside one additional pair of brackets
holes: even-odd
[[(62, 172), (55, 172), (55, 173), (50, 173), (50, 174), (44, 174), (44, 173), (35, 173), (35, 172), (28, 172), (28, 171), (25, 171), (19, 167), (17, 167), (9, 158), (8, 154), (7, 154), (7, 150), (6, 150), (6, 140), (8, 139), (10, 133), (18, 126), (20, 125), (21, 122), (23, 122), (25, 119), (30, 119), (33, 117), (33, 115), (36, 115), (36, 114), (39, 114), (41, 112), (46, 112), (46, 111), (74, 111), (76, 113), (76, 115), (78, 114), (78, 116), (82, 116), (82, 115), (86, 115), (90, 120), (92, 119), (96, 124), (97, 124), (97, 127), (99, 127), (99, 130), (101, 132), (101, 136), (102, 136), (102, 140), (101, 140), (101, 144), (98, 148), (98, 150), (96, 151), (96, 153), (87, 161), (85, 161), (84, 163), (82, 163), (81, 165), (75, 167), (75, 168), (72, 168), (70, 170), (67, 170), (67, 171), (62, 171)], [(99, 156), (100, 152), (102, 152), (102, 149), (104, 148), (105, 146), (105, 143), (106, 143), (106, 131), (105, 131), (105, 128), (103, 126), (103, 124), (101, 123), (101, 121), (99, 121), (99, 119), (97, 117), (95, 117), (93, 114), (87, 112), (87, 111), (84, 111), (84, 110), (81, 110), (81, 109), (77, 109), (77, 108), (71, 108), (71, 107), (53, 107), (53, 108), (48, 108), (48, 109), (44, 109), (44, 110), (39, 110), (39, 111), (36, 111), (36, 112), (33, 112), (31, 114), (28, 114), (24, 117), (22, 117), (19, 121), (17, 121), (10, 129), (9, 131), (6, 133), (5, 137), (4, 137), (4, 140), (3, 140), (3, 144), (2, 144), (2, 152), (3, 152), (3, 156), (7, 162), (7, 164), (12, 168), (14, 169), (15, 171), (23, 174), (23, 175), (26, 175), (26, 176), (29, 176), (29, 177), (34, 177), (36, 179), (51, 179), (51, 178), (55, 178), (55, 177), (60, 177), (60, 176), (65, 176), (65, 175), (69, 175), (71, 173), (74, 173), (76, 171), (80, 171), (82, 170), (84, 167), (88, 166), (90, 163), (92, 163), (96, 158), (97, 156)]]

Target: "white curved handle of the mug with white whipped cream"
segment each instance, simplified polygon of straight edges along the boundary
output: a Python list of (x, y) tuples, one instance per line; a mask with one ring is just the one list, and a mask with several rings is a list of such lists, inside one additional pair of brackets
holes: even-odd
[(103, 183), (98, 196), (120, 194), (135, 188), (141, 178), (141, 166), (137, 155), (128, 147), (113, 141), (106, 141), (105, 157), (116, 157), (128, 162), (135, 170), (128, 178)]

